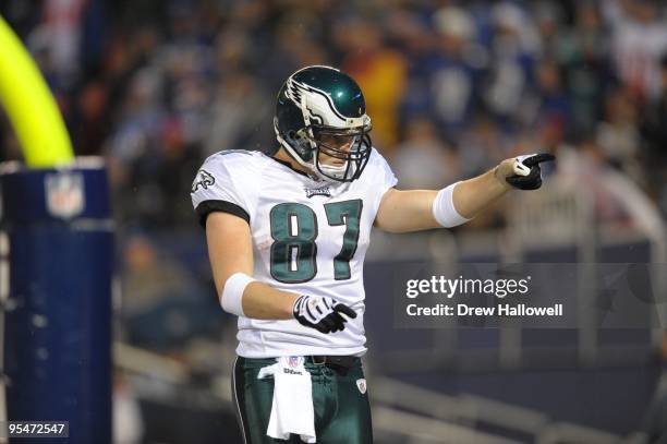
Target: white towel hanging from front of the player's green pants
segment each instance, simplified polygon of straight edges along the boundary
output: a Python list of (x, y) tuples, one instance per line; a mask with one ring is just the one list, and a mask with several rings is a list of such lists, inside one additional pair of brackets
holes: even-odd
[(316, 442), (315, 410), (311, 373), (303, 367), (303, 357), (281, 357), (272, 365), (259, 370), (257, 379), (274, 376), (274, 403), (266, 434), (289, 440), (290, 434), (306, 443)]

